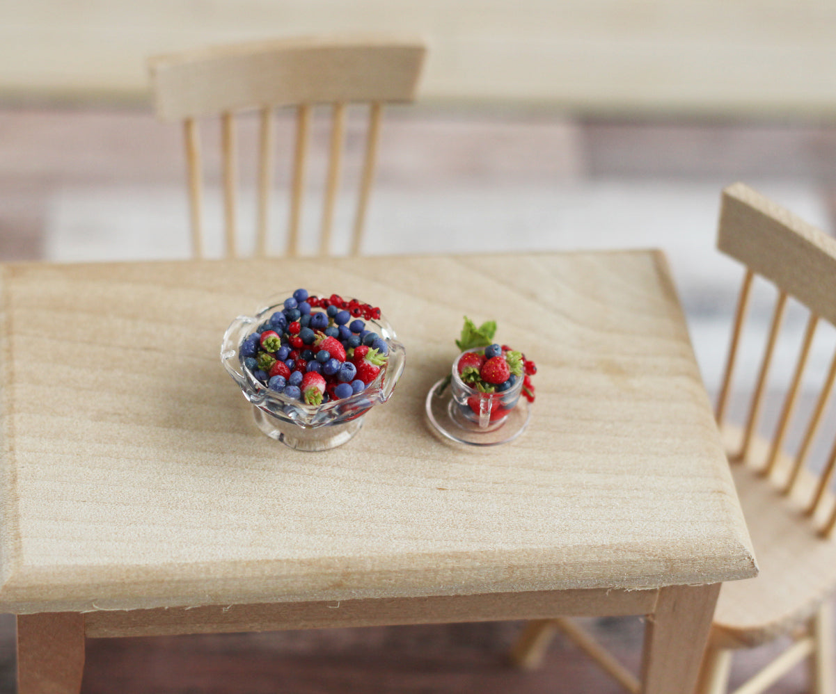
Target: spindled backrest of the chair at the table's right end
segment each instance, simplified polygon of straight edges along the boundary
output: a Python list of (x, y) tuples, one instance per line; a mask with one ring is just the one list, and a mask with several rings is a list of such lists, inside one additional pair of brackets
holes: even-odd
[[(765, 345), (752, 388), (752, 398), (742, 431), (742, 443), (730, 458), (752, 463), (753, 449), (759, 438), (758, 427), (762, 405), (767, 388), (770, 367), (776, 352), (776, 344), (782, 332), (783, 318), (788, 299), (797, 301), (808, 313), (806, 329), (800, 343), (798, 357), (792, 377), (786, 388), (777, 424), (767, 437), (766, 457), (758, 460), (762, 474), (772, 477), (777, 461), (786, 458), (785, 451), (789, 425), (798, 414), (798, 395), (801, 391), (805, 368), (813, 346), (817, 328), (821, 322), (836, 325), (836, 239), (818, 230), (813, 225), (774, 204), (747, 185), (735, 184), (723, 191), (717, 247), (746, 266), (743, 284), (738, 296), (737, 312), (732, 329), (732, 342), (726, 359), (726, 371), (721, 382), (717, 402), (716, 419), (724, 423), (731, 393), (732, 374), (741, 357), (738, 347), (747, 306), (752, 295), (755, 276), (762, 276), (777, 287), (772, 309), (772, 322), (767, 332)], [(799, 480), (804, 477), (809, 485), (806, 511), (811, 518), (822, 519), (818, 530), (829, 536), (836, 525), (836, 507), (832, 509), (832, 494), (828, 485), (836, 469), (836, 443), (833, 443), (826, 463), (818, 476), (811, 478), (808, 466), (813, 441), (828, 407), (833, 382), (836, 380), (836, 354), (830, 362), (827, 376), (818, 390), (818, 398), (805, 421), (801, 420), (802, 437), (798, 450), (791, 458), (791, 464), (782, 479), (784, 494), (798, 492)]]

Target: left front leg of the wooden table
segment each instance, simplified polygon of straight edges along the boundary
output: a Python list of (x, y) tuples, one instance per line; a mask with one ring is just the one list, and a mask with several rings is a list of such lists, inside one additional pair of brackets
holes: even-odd
[(79, 694), (84, 615), (18, 615), (18, 694)]

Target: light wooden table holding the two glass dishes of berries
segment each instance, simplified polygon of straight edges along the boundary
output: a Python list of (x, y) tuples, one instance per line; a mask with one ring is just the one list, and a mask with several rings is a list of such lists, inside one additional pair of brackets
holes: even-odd
[[(84, 636), (652, 615), (643, 679), (691, 691), (719, 584), (756, 573), (655, 251), (0, 266), (3, 585), (20, 691), (78, 691)], [(227, 324), (306, 286), (383, 307), (395, 396), (349, 443), (265, 437)], [(424, 415), (462, 316), (538, 362), (528, 430)]]

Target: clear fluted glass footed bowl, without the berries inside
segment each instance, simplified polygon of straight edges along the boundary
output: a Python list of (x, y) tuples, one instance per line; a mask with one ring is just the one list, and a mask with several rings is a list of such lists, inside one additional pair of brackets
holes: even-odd
[[(404, 370), (405, 348), (395, 339), (395, 330), (385, 317), (364, 320), (369, 330), (382, 337), (389, 347), (389, 358), (375, 380), (360, 393), (349, 398), (331, 400), (321, 405), (308, 405), (267, 388), (244, 366), (240, 348), (256, 328), (267, 322), (273, 312), (281, 311), (283, 299), (292, 291), (274, 297), (268, 306), (252, 316), (238, 316), (223, 335), (221, 362), (249, 403), (253, 416), (263, 433), (290, 448), (321, 451), (334, 448), (352, 438), (363, 425), (363, 415), (377, 403), (391, 398)], [(329, 296), (312, 292), (314, 296)], [(344, 297), (350, 300), (350, 297)]]

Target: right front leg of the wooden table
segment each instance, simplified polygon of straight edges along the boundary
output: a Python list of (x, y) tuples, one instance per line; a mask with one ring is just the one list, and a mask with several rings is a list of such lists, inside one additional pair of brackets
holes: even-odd
[(645, 632), (644, 694), (693, 694), (720, 584), (659, 591)]

